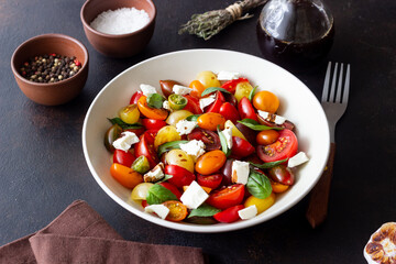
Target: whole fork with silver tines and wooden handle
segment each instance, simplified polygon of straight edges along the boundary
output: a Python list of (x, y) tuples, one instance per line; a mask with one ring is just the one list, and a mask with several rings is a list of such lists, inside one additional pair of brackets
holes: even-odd
[[(312, 228), (316, 228), (320, 223), (322, 223), (327, 217), (330, 184), (331, 184), (331, 176), (332, 176), (334, 154), (336, 154), (334, 130), (337, 122), (345, 112), (349, 91), (350, 91), (351, 66), (349, 64), (346, 66), (345, 82), (343, 89), (342, 89), (343, 64), (341, 64), (340, 66), (339, 78), (338, 78), (338, 66), (339, 64), (336, 63), (332, 81), (331, 81), (330, 95), (329, 95), (330, 76), (331, 76), (331, 62), (329, 62), (324, 78), (322, 98), (321, 98), (321, 106), (324, 110), (330, 129), (330, 154), (329, 154), (329, 160), (326, 164), (324, 172), (321, 175), (318, 184), (314, 187), (309, 198), (309, 205), (306, 217)], [(336, 87), (337, 82), (338, 85)]]

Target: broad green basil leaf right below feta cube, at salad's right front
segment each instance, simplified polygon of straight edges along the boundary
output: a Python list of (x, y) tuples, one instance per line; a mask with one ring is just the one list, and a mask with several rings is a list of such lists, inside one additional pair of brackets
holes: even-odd
[(267, 198), (272, 193), (271, 182), (267, 176), (251, 169), (248, 184), (249, 193), (258, 199)]

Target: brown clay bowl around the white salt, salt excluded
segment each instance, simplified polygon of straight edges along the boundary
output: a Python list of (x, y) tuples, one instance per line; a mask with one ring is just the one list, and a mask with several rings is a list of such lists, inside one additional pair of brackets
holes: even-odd
[[(103, 11), (135, 8), (147, 12), (150, 22), (128, 34), (106, 34), (94, 30), (90, 23)], [(141, 52), (150, 42), (155, 26), (156, 9), (151, 0), (88, 0), (81, 8), (80, 19), (89, 43), (109, 57), (130, 57)]]

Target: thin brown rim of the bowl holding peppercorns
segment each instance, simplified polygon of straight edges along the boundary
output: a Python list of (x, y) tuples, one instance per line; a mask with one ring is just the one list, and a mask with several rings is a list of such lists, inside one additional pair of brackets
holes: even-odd
[[(76, 75), (74, 75), (65, 80), (57, 81), (57, 82), (34, 82), (34, 81), (31, 81), (31, 80), (24, 78), (22, 75), (20, 75), (19, 70), (16, 69), (18, 66), (15, 65), (15, 61), (14, 61), (16, 54), (20, 53), (29, 43), (36, 41), (36, 40), (41, 40), (41, 38), (64, 38), (64, 40), (67, 40), (69, 42), (74, 42), (75, 44), (77, 44), (81, 48), (81, 51), (86, 57), (80, 70), (78, 70), (78, 73)], [(61, 34), (61, 33), (47, 33), (47, 34), (41, 34), (41, 35), (33, 36), (33, 37), (24, 41), (22, 44), (20, 44), (15, 48), (15, 51), (13, 52), (13, 54), (11, 56), (11, 69), (12, 69), (12, 73), (14, 74), (15, 78), (18, 78), (19, 80), (21, 80), (25, 84), (29, 84), (31, 86), (36, 86), (36, 87), (50, 87), (50, 86), (59, 85), (59, 84), (68, 84), (70, 81), (73, 81), (74, 79), (76, 79), (86, 68), (88, 68), (88, 63), (89, 63), (89, 53), (87, 51), (87, 47), (77, 38), (69, 36), (69, 35)]]

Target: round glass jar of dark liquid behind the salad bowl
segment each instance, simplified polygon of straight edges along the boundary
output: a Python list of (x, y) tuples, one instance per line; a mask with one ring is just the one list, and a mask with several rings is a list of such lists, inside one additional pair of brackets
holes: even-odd
[(319, 0), (270, 0), (257, 22), (263, 56), (292, 72), (318, 65), (329, 53), (334, 21)]

